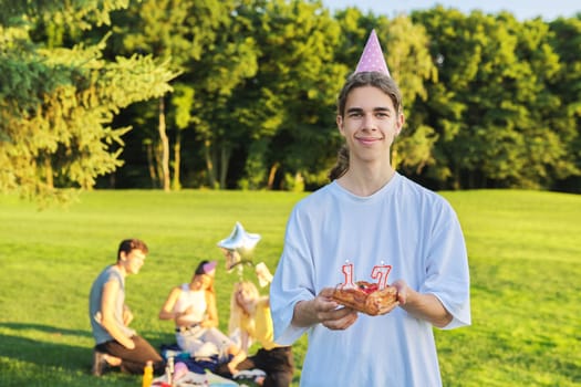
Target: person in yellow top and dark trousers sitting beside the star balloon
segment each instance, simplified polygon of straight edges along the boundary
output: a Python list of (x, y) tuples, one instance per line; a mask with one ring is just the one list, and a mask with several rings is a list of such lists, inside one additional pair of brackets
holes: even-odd
[[(230, 300), (229, 334), (240, 334), (240, 347), (248, 354), (252, 342), (260, 344), (258, 352), (248, 356), (236, 367), (238, 372), (261, 369), (266, 373), (255, 381), (263, 387), (288, 387), (292, 381), (294, 360), (291, 346), (281, 346), (273, 341), (272, 318), (268, 296), (261, 296), (250, 281), (237, 282)], [(219, 367), (221, 376), (236, 378), (228, 367)]]

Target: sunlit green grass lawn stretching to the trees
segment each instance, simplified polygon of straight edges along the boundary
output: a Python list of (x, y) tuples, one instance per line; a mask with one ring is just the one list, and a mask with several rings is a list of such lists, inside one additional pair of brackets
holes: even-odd
[[(445, 386), (581, 386), (581, 196), (538, 191), (442, 192), (468, 244), (473, 326), (436, 331)], [(137, 386), (89, 374), (87, 294), (123, 238), (149, 257), (127, 279), (132, 324), (154, 345), (174, 341), (157, 313), (201, 259), (219, 260), (220, 325), (236, 273), (216, 243), (236, 221), (262, 240), (255, 262), (273, 271), (284, 224), (302, 197), (289, 192), (94, 191), (66, 209), (0, 196), (0, 386)], [(246, 270), (245, 276), (252, 278)], [(294, 346), (295, 384), (305, 351)], [(388, 365), (386, 365), (386, 368)]]

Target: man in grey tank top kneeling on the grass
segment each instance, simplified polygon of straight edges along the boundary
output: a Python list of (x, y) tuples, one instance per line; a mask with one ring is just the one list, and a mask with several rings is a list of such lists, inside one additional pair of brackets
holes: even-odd
[(92, 370), (95, 376), (101, 376), (105, 365), (121, 365), (123, 372), (141, 375), (148, 360), (157, 374), (164, 369), (162, 356), (128, 327), (133, 315), (125, 305), (125, 278), (139, 272), (147, 252), (143, 241), (123, 240), (116, 263), (106, 266), (91, 286), (89, 315), (96, 344)]

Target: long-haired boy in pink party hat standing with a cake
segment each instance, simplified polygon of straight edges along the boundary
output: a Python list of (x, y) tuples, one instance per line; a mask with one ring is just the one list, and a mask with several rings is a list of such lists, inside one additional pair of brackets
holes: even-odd
[[(433, 328), (471, 323), (454, 209), (391, 164), (404, 123), (402, 93), (372, 31), (339, 94), (345, 146), (331, 182), (292, 209), (270, 287), (274, 341), (309, 336), (303, 387), (442, 386)], [(371, 316), (333, 301), (335, 286), (370, 276), (396, 287), (398, 306)]]

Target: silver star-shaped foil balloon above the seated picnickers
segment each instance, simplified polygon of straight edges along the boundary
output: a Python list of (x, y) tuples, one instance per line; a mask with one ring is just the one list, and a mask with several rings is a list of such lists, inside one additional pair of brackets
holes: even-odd
[(252, 265), (252, 255), (259, 241), (260, 234), (246, 232), (242, 224), (236, 222), (230, 236), (218, 242), (218, 247), (226, 255), (226, 269), (230, 271), (241, 263)]

